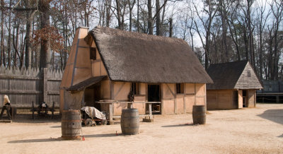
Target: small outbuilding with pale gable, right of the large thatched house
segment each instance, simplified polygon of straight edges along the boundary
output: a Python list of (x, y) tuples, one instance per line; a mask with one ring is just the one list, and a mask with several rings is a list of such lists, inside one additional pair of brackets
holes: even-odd
[(214, 82), (207, 84), (207, 109), (255, 107), (262, 84), (248, 61), (211, 64), (207, 73)]

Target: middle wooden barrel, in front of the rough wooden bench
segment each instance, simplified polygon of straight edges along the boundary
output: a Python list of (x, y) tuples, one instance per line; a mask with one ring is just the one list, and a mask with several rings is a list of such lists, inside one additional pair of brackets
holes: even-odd
[(122, 109), (121, 129), (125, 135), (139, 134), (138, 109)]

